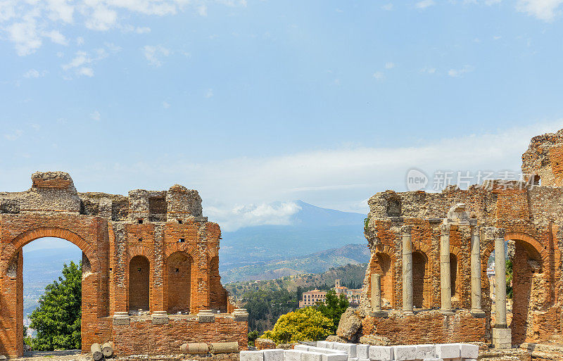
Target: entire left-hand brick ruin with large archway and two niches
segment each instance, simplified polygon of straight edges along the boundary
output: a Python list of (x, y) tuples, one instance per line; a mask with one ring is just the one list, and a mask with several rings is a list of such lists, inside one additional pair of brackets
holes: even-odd
[(82, 250), (82, 350), (179, 353), (182, 343), (238, 341), (248, 314), (219, 276), (216, 223), (197, 191), (78, 193), (65, 172), (37, 172), (32, 188), (0, 193), (0, 354), (23, 354), (25, 244), (58, 237)]

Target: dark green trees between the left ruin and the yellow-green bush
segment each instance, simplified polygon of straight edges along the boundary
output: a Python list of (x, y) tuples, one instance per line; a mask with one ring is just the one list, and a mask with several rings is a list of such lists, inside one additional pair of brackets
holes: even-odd
[(241, 301), (248, 310), (248, 329), (258, 332), (270, 329), (279, 316), (298, 306), (296, 293), (285, 289), (248, 291)]

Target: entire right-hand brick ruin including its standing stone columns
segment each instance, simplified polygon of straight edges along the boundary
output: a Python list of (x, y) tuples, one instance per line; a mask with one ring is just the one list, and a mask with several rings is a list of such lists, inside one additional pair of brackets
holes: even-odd
[[(522, 161), (524, 182), (385, 191), (369, 199), (364, 335), (394, 344), (492, 341), (498, 348), (561, 336), (563, 129), (534, 137)], [(505, 241), (512, 319), (504, 299)], [(492, 309), (486, 267), (493, 252)]]

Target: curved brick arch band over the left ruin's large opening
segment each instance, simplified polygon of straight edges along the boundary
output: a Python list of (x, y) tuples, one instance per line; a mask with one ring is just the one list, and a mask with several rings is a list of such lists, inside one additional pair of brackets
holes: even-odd
[(96, 252), (93, 248), (84, 241), (81, 236), (70, 232), (68, 229), (58, 228), (58, 227), (41, 227), (36, 229), (30, 229), (27, 232), (23, 232), (16, 236), (8, 246), (4, 248), (2, 255), (0, 256), (0, 272), (5, 274), (8, 271), (11, 260), (15, 257), (16, 253), (25, 246), (27, 243), (35, 241), (36, 239), (44, 237), (60, 238), (73, 243), (75, 246), (80, 248), (82, 252), (86, 255), (90, 262), (91, 272), (96, 273), (100, 270), (100, 263)]

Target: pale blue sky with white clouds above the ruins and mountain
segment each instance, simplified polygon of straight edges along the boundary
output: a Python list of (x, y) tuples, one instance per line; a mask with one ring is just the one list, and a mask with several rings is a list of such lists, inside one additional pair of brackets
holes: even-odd
[(563, 127), (562, 3), (0, 1), (0, 189), (180, 183), (236, 229), (518, 170)]

